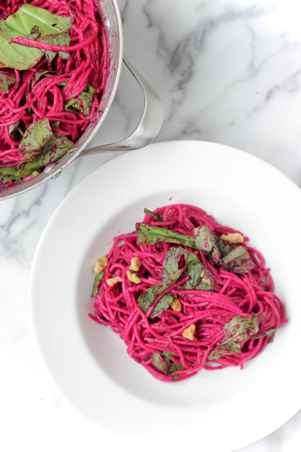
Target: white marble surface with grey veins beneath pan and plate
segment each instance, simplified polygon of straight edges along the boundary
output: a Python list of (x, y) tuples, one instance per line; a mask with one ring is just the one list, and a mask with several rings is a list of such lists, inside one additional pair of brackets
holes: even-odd
[[(125, 53), (165, 105), (156, 141), (197, 139), (234, 146), (266, 160), (301, 186), (301, 3), (118, 3)], [(123, 138), (137, 123), (141, 104), (139, 89), (124, 69), (112, 108), (92, 144)], [(113, 155), (82, 158), (58, 179), (0, 202), (2, 450), (101, 447), (101, 432), (69, 406), (45, 369), (32, 328), (28, 289), (33, 255), (52, 212), (72, 187)], [(241, 450), (297, 452), (300, 427), (301, 411)]]

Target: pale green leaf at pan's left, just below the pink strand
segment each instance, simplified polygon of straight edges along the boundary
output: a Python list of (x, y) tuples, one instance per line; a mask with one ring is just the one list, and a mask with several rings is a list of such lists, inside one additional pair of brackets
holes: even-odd
[[(11, 17), (11, 16), (10, 16)], [(0, 21), (0, 67), (11, 67), (25, 70), (34, 66), (42, 58), (43, 52), (34, 47), (23, 46), (10, 41), (22, 35), (7, 27), (4, 21)]]

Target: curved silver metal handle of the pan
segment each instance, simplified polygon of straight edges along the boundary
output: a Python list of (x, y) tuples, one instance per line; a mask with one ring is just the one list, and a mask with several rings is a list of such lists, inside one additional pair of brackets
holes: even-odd
[(140, 122), (134, 132), (124, 140), (86, 149), (81, 152), (78, 157), (81, 157), (82, 155), (97, 154), (98, 152), (130, 151), (132, 149), (143, 148), (157, 137), (161, 129), (164, 117), (164, 106), (157, 92), (147, 83), (139, 72), (136, 71), (125, 56), (123, 56), (123, 62), (139, 83), (144, 94), (144, 109)]

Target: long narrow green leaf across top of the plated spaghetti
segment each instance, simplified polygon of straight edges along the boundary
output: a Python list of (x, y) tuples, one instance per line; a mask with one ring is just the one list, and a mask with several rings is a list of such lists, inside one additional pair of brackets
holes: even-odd
[(146, 223), (136, 223), (139, 245), (154, 245), (158, 242), (177, 243), (187, 247), (196, 248), (194, 237), (177, 234), (161, 226), (151, 226)]

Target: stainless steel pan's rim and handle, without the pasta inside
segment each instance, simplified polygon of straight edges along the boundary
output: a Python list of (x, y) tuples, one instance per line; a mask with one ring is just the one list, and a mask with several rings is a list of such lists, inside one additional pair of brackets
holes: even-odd
[[(45, 167), (42, 173), (33, 179), (27, 181), (22, 180), (19, 184), (16, 183), (12, 187), (5, 187), (0, 184), (0, 200), (17, 196), (39, 186), (49, 179), (55, 179), (61, 174), (65, 166), (82, 155), (96, 154), (103, 151), (126, 151), (142, 148), (152, 142), (161, 129), (164, 108), (158, 94), (123, 55), (122, 24), (116, 1), (94, 0), (94, 3), (106, 28), (109, 47), (108, 76), (97, 112), (84, 134), (76, 142), (75, 150), (71, 154), (66, 154), (59, 161), (51, 163)], [(135, 131), (124, 140), (85, 149), (100, 128), (112, 104), (120, 77), (122, 60), (139, 83), (144, 94), (144, 110), (141, 120)]]

